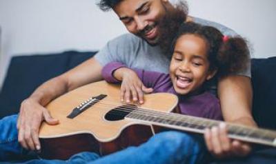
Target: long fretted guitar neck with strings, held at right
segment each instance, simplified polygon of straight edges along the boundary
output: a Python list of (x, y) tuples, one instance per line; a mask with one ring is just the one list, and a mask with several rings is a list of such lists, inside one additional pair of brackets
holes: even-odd
[[(144, 109), (137, 109), (130, 112), (130, 114), (126, 116), (126, 119), (200, 134), (203, 134), (206, 128), (217, 126), (222, 122), (195, 116)], [(239, 139), (250, 143), (260, 143), (276, 147), (276, 132), (231, 123), (226, 123), (226, 127), (228, 129), (228, 136), (231, 139)]]

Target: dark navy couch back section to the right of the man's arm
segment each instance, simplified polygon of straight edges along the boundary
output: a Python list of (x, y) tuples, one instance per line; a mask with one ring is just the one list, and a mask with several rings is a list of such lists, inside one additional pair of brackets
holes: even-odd
[(251, 63), (254, 119), (260, 127), (276, 130), (276, 57)]

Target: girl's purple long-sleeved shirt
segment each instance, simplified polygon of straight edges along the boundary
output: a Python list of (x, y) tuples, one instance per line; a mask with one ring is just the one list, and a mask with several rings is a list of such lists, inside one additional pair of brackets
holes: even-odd
[[(103, 67), (101, 75), (108, 83), (119, 83), (112, 73), (119, 69), (125, 68), (126, 66), (122, 63), (111, 62)], [(179, 95), (173, 88), (172, 81), (170, 80), (169, 74), (150, 72), (144, 70), (134, 70), (139, 79), (148, 88), (153, 88), (153, 92), (167, 92), (178, 96), (179, 112), (189, 116), (198, 116), (207, 119), (222, 120), (221, 108), (219, 99), (209, 92), (193, 96)]]

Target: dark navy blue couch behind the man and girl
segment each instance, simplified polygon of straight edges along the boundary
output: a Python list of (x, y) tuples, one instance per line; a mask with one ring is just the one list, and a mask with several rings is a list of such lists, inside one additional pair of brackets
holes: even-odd
[[(70, 70), (94, 54), (70, 51), (13, 57), (0, 92), (0, 119), (18, 113), (21, 101), (41, 83)], [(251, 61), (254, 119), (260, 127), (276, 130), (276, 57)], [(272, 155), (276, 158), (274, 152)]]

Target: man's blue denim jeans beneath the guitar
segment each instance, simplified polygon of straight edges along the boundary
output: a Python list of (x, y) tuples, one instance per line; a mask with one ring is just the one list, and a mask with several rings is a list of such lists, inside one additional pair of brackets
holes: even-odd
[[(0, 161), (29, 157), (17, 141), (17, 115), (0, 120)], [(25, 163), (201, 163), (206, 155), (200, 137), (182, 132), (161, 132), (138, 147), (128, 147), (107, 156), (93, 152), (75, 154), (68, 161), (32, 159)]]

